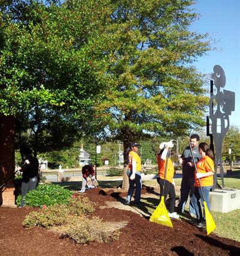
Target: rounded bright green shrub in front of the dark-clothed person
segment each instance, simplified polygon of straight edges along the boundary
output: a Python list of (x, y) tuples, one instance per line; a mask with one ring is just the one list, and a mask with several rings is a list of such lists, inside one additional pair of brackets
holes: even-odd
[[(21, 196), (17, 197), (17, 206), (20, 205)], [(71, 192), (64, 187), (55, 184), (40, 184), (25, 196), (26, 206), (41, 207), (53, 204), (67, 204), (71, 198)]]

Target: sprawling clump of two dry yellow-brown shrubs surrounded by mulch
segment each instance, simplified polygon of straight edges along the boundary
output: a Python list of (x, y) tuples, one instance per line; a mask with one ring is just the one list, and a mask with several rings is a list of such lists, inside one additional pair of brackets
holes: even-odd
[(83, 196), (72, 196), (67, 204), (43, 206), (38, 212), (31, 212), (23, 221), (25, 228), (33, 226), (52, 228), (75, 243), (87, 244), (91, 241), (112, 242), (119, 237), (119, 228), (125, 222), (103, 222), (100, 218), (88, 219), (86, 215), (94, 212), (95, 203)]

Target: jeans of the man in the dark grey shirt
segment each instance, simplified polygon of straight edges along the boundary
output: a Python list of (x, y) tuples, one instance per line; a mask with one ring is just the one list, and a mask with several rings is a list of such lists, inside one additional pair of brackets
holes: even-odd
[(196, 214), (193, 201), (192, 201), (193, 192), (194, 192), (194, 183), (195, 183), (194, 177), (193, 178), (182, 177), (181, 189), (180, 189), (181, 196), (180, 196), (180, 202), (178, 204), (179, 213), (184, 213), (185, 204), (187, 203), (188, 195), (189, 195), (190, 196), (189, 213), (191, 215)]

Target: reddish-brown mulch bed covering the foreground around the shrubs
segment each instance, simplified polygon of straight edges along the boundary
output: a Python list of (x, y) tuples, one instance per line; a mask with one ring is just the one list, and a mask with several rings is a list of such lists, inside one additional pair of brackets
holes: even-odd
[(0, 207), (0, 255), (240, 255), (240, 242), (215, 234), (206, 236), (206, 230), (187, 222), (173, 220), (173, 228), (169, 228), (149, 222), (129, 210), (103, 209), (106, 201), (122, 202), (125, 194), (116, 190), (98, 188), (84, 195), (98, 203), (94, 216), (100, 216), (104, 221), (128, 222), (121, 228), (119, 240), (74, 245), (70, 240), (61, 239), (58, 234), (43, 228), (25, 230), (23, 219), (36, 209)]

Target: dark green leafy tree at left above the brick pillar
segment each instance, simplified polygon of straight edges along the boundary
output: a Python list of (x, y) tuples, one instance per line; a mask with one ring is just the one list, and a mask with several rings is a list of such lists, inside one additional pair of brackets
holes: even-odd
[(68, 147), (107, 84), (98, 49), (107, 8), (94, 1), (0, 5), (0, 112), (16, 118), (17, 147), (27, 143), (35, 154)]

